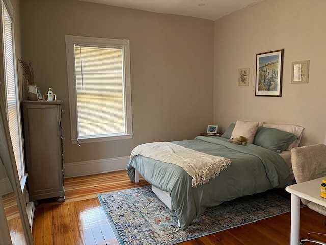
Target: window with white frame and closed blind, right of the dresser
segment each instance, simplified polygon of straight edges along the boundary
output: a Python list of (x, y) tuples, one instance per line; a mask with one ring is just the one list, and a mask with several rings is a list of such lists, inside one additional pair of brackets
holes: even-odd
[(71, 141), (132, 138), (127, 39), (66, 35)]

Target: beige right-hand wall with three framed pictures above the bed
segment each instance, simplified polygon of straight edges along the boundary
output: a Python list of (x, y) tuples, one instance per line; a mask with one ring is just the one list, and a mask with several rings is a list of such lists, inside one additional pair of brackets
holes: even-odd
[[(282, 97), (255, 97), (256, 54), (284, 48)], [(309, 83), (291, 84), (291, 64), (310, 60)], [(238, 69), (249, 67), (249, 86)], [(214, 123), (236, 120), (296, 124), (301, 145), (324, 143), (326, 1), (266, 0), (215, 21)]]

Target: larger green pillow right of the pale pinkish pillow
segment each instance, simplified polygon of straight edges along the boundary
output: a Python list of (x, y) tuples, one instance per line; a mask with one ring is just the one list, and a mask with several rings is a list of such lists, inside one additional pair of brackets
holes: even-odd
[(285, 151), (297, 136), (274, 128), (258, 127), (254, 143), (275, 152)]

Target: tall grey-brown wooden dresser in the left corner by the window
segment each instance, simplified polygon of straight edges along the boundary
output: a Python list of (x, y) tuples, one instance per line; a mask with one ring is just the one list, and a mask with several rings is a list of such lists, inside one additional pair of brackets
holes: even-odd
[(23, 101), (26, 173), (30, 201), (65, 201), (61, 100)]

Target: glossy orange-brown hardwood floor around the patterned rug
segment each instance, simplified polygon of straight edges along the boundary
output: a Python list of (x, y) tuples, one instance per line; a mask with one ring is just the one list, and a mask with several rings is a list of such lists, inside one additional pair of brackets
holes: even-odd
[[(118, 241), (101, 208), (97, 194), (146, 186), (129, 180), (126, 171), (117, 171), (64, 180), (66, 201), (42, 200), (35, 209), (33, 237), (35, 245), (118, 245)], [(326, 242), (326, 236), (308, 232), (326, 232), (326, 217), (301, 209), (300, 236)], [(228, 229), (194, 240), (183, 245), (210, 244), (289, 244), (290, 213), (267, 218), (251, 224)]]

